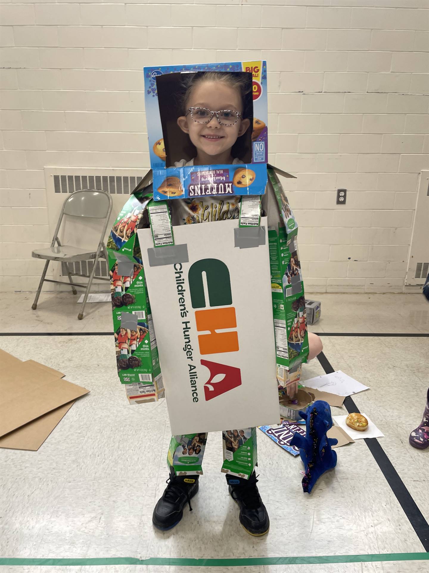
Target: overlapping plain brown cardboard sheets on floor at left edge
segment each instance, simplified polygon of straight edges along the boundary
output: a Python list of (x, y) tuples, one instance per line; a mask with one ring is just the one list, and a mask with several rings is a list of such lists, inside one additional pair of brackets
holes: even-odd
[(0, 350), (0, 448), (38, 450), (74, 401), (89, 390), (34, 360)]

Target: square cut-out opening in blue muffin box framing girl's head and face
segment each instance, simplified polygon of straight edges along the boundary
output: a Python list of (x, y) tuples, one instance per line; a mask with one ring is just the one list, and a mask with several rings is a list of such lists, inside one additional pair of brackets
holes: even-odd
[(250, 73), (172, 73), (156, 81), (167, 167), (252, 162)]

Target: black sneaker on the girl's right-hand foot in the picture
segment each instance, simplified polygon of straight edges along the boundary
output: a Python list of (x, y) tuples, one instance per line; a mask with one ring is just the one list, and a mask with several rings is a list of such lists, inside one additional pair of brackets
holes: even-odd
[(257, 481), (255, 472), (248, 480), (227, 476), (229, 494), (240, 507), (241, 525), (251, 535), (260, 536), (268, 533), (269, 517), (259, 495)]

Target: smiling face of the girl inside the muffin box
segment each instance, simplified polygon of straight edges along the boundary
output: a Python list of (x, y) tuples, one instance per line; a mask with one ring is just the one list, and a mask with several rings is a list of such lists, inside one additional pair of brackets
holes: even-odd
[[(201, 81), (192, 90), (186, 109), (203, 107), (210, 111), (231, 109), (243, 112), (243, 101), (240, 91), (224, 81)], [(221, 125), (216, 115), (209, 123), (197, 123), (190, 113), (177, 119), (178, 126), (189, 135), (197, 148), (195, 164), (212, 164), (231, 162), (231, 148), (250, 125), (249, 119), (239, 119), (234, 125)]]

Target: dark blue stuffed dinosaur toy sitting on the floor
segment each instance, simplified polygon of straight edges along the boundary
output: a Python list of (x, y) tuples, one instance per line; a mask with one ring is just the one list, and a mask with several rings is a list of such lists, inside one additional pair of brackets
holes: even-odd
[(328, 438), (327, 431), (333, 426), (331, 408), (327, 402), (317, 400), (307, 410), (300, 411), (305, 420), (305, 437), (295, 433), (291, 446), (299, 448), (301, 460), (305, 466), (303, 490), (310, 493), (319, 477), (335, 468), (337, 454), (331, 446), (338, 444), (335, 438)]

